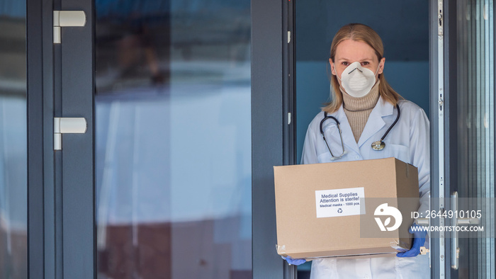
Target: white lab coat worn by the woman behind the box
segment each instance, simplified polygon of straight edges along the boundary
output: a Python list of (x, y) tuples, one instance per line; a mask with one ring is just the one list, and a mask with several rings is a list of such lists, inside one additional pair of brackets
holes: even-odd
[[(356, 161), (396, 157), (417, 166), (419, 170), (419, 212), (429, 209), (430, 161), (429, 161), (429, 120), (424, 110), (410, 101), (399, 101), (400, 119), (385, 137), (385, 148), (376, 151), (371, 148), (394, 122), (397, 112), (393, 105), (382, 98), (373, 108), (363, 129), (358, 144), (349, 125), (343, 107), (330, 115), (337, 118), (342, 130), (346, 154), (335, 161)], [(308, 126), (303, 145), (302, 164), (332, 162), (331, 154), (320, 135), (320, 121), (324, 113), (315, 116)], [(341, 140), (334, 120), (323, 125), (325, 137), (334, 156), (341, 154)], [(332, 236), (329, 236), (332, 237)], [(428, 245), (428, 239), (426, 241)], [(382, 257), (334, 259), (322, 258), (312, 261), (310, 278), (430, 278), (429, 257), (419, 255), (413, 258)]]

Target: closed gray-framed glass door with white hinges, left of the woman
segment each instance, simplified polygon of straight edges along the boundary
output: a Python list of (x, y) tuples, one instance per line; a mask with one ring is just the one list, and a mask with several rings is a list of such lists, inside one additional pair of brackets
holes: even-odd
[(28, 277), (283, 276), (281, 4), (26, 4)]

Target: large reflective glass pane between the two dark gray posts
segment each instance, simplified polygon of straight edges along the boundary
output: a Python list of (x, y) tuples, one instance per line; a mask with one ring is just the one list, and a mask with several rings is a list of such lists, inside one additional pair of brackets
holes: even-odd
[(249, 4), (96, 0), (99, 278), (252, 278)]

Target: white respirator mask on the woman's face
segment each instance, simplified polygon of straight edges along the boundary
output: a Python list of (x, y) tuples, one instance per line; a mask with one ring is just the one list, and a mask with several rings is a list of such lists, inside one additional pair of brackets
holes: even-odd
[(373, 85), (376, 84), (376, 74), (378, 71), (379, 67), (377, 67), (377, 71), (374, 74), (370, 69), (361, 67), (360, 62), (353, 62), (344, 69), (341, 79), (337, 75), (336, 77), (341, 81), (341, 86), (349, 96), (360, 98), (366, 96), (371, 91)]

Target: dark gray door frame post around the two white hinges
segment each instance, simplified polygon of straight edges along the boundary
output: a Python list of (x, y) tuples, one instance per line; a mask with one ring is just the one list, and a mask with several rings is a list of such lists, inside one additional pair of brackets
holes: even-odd
[[(92, 5), (26, 1), (30, 278), (96, 277)], [(84, 10), (86, 27), (62, 28), (54, 44), (54, 10)], [(54, 117), (84, 117), (88, 129), (54, 151)]]

